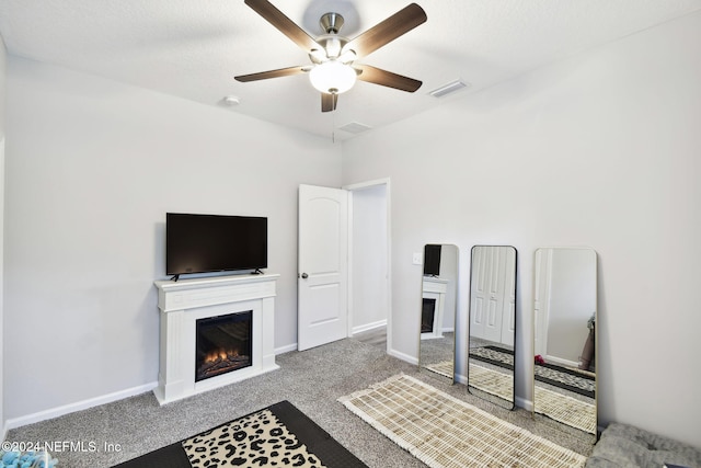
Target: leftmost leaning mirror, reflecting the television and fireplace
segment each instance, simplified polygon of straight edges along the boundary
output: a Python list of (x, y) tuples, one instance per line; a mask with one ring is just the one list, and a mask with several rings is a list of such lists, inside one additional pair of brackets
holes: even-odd
[(455, 381), (455, 323), (458, 295), (458, 248), (424, 247), (418, 366), (432, 376)]

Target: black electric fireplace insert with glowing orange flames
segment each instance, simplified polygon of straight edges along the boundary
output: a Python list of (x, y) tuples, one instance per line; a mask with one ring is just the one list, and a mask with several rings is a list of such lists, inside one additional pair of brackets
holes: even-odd
[(252, 365), (253, 311), (196, 321), (195, 381)]

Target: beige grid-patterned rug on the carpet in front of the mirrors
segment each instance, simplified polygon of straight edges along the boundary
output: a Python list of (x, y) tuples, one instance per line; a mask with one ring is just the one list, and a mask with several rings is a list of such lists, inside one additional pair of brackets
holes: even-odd
[(338, 399), (434, 468), (584, 467), (586, 457), (400, 374)]

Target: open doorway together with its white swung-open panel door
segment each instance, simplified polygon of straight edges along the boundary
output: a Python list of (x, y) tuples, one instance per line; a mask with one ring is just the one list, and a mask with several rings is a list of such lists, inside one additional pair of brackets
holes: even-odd
[(391, 346), (389, 180), (299, 186), (299, 351), (367, 332)]

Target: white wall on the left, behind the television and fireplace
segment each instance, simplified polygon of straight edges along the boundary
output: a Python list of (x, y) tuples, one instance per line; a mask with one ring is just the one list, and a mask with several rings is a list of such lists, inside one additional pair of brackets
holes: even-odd
[(268, 217), (295, 345), (297, 187), (340, 186), (340, 146), (13, 56), (7, 110), (5, 418), (157, 380), (166, 212)]

